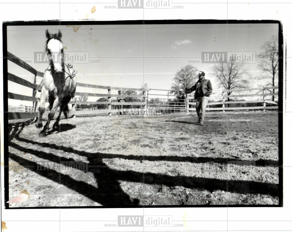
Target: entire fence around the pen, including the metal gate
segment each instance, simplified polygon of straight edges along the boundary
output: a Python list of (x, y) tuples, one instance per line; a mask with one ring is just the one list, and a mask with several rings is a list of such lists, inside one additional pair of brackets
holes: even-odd
[[(11, 62), (19, 65), (20, 67), (24, 68), (25, 70), (31, 72), (34, 75), (33, 83), (18, 77), (12, 73), (8, 72), (7, 79), (8, 81), (20, 84), (22, 86), (28, 87), (32, 89), (32, 96), (26, 96), (16, 93), (8, 92), (9, 99), (21, 100), (21, 101), (31, 101), (33, 102), (33, 107), (27, 109), (23, 109), (22, 112), (19, 109), (9, 107), (8, 110), (8, 120), (11, 119), (23, 119), (23, 118), (34, 118), (37, 117), (37, 104), (40, 101), (39, 98), (36, 96), (36, 90), (39, 92), (41, 91), (41, 86), (36, 84), (36, 77), (44, 77), (43, 72), (39, 72), (35, 70), (33, 67), (25, 63), (23, 60), (18, 58), (17, 56), (13, 55), (10, 52), (7, 52), (7, 59)], [(187, 95), (186, 99), (178, 99), (176, 96), (171, 95), (170, 90), (158, 90), (158, 91), (167, 91), (167, 94), (149, 94), (143, 89), (135, 89), (135, 88), (121, 88), (121, 87), (112, 87), (112, 86), (101, 86), (101, 85), (94, 85), (94, 84), (85, 84), (79, 83), (76, 84), (79, 87), (85, 88), (93, 88), (93, 89), (107, 89), (107, 94), (103, 93), (92, 93), (92, 92), (76, 92), (76, 96), (90, 96), (90, 97), (103, 97), (107, 99), (107, 101), (77, 101), (75, 98), (74, 100), (70, 101), (69, 104), (72, 104), (72, 112), (74, 115), (96, 115), (98, 113), (108, 113), (111, 115), (112, 113), (123, 113), (128, 112), (129, 114), (138, 113), (144, 114), (145, 112), (152, 111), (152, 110), (178, 110), (180, 112), (189, 112), (194, 111), (195, 108), (191, 108), (190, 106), (196, 105), (196, 103), (190, 102), (190, 97)], [(39, 87), (39, 89), (37, 89)], [(263, 88), (251, 88), (251, 89), (230, 89), (230, 90), (223, 90), (222, 96), (215, 96), (215, 98), (222, 98), (222, 101), (218, 102), (210, 102), (208, 103), (207, 110), (266, 110), (266, 109), (278, 109), (277, 102), (266, 100), (267, 96), (278, 96), (278, 92), (275, 90), (279, 89), (278, 86), (269, 86)], [(112, 94), (112, 90), (121, 90), (121, 91), (140, 91), (142, 94)], [(263, 93), (256, 93), (256, 94), (234, 94), (237, 92), (246, 92), (246, 91), (263, 91)], [(265, 91), (270, 91), (269, 93)], [(228, 93), (231, 93), (228, 95)], [(155, 97), (156, 96), (156, 97)], [(158, 96), (158, 97), (157, 97)], [(165, 97), (163, 97), (165, 96)], [(117, 98), (132, 98), (134, 100), (131, 101), (117, 101)], [(232, 98), (245, 98), (245, 97), (263, 97), (263, 100), (248, 100), (248, 101), (230, 101)], [(160, 99), (161, 102), (155, 103), (155, 99)], [(167, 100), (167, 101), (166, 101)], [(229, 100), (229, 101), (226, 101)], [(163, 102), (164, 101), (164, 102)], [(253, 106), (253, 107), (229, 107), (229, 104), (240, 104), (240, 103), (263, 103), (263, 106)], [(272, 104), (274, 106), (266, 106), (266, 104)], [(75, 110), (76, 105), (91, 105), (91, 110)], [(98, 105), (106, 105), (106, 109), (98, 109)], [(221, 105), (222, 107), (209, 107), (211, 105)], [(124, 107), (125, 106), (125, 107)], [(128, 108), (131, 106), (131, 108)], [(136, 108), (133, 108), (136, 106)], [(140, 106), (140, 107), (138, 107)], [(29, 111), (33, 112), (29, 112)], [(25, 112), (27, 111), (27, 112)]]

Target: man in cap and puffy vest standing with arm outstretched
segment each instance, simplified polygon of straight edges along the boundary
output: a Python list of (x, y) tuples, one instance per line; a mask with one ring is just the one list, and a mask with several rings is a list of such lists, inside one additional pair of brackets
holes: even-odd
[(195, 92), (194, 99), (197, 102), (196, 111), (199, 117), (198, 124), (204, 124), (205, 112), (208, 103), (208, 97), (212, 93), (212, 84), (210, 80), (205, 79), (205, 73), (199, 72), (199, 80), (190, 89), (186, 89), (185, 93)]

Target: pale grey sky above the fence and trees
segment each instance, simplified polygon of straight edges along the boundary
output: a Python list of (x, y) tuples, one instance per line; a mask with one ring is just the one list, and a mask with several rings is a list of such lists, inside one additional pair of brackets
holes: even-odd
[[(73, 63), (78, 72), (77, 82), (128, 88), (140, 88), (147, 83), (151, 89), (170, 89), (175, 73), (190, 60), (201, 60), (201, 52), (258, 54), (264, 42), (278, 34), (277, 24), (82, 25), (76, 32), (66, 25), (8, 26), (7, 50), (44, 72), (48, 63), (34, 63), (34, 52), (44, 51), (46, 29), (57, 33), (59, 28), (65, 52), (88, 52), (89, 60), (99, 60), (99, 63)], [(220, 91), (212, 72), (214, 64), (192, 65), (206, 73), (214, 91)], [(246, 64), (246, 67), (251, 78), (259, 75), (256, 64)], [(8, 72), (33, 80), (32, 74), (10, 61)], [(40, 83), (42, 78), (37, 78)], [(252, 84), (256, 86), (255, 82)], [(10, 81), (8, 91), (32, 96), (32, 89)], [(107, 90), (82, 87), (77, 87), (77, 91), (107, 93)], [(21, 103), (24, 102), (8, 101), (12, 105)]]

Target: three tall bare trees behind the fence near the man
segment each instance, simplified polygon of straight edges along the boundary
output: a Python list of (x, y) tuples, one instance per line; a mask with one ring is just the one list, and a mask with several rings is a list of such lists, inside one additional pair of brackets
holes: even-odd
[[(257, 64), (261, 73), (254, 79), (251, 79), (251, 72), (243, 62), (237, 63), (232, 60), (229, 63), (215, 64), (212, 70), (219, 88), (223, 90), (248, 89), (254, 82), (259, 83), (258, 87), (277, 86), (279, 84), (279, 41), (277, 36), (273, 35), (268, 41), (265, 41), (257, 58), (263, 62)], [(178, 70), (171, 86), (173, 93), (185, 92), (186, 89), (193, 86), (197, 82), (196, 74), (198, 72), (198, 68), (192, 65), (186, 65)], [(274, 93), (275, 89), (271, 89), (270, 92)], [(232, 91), (227, 92), (227, 95), (231, 94)], [(272, 101), (275, 100), (274, 96), (271, 98)], [(229, 98), (227, 100), (229, 101)]]

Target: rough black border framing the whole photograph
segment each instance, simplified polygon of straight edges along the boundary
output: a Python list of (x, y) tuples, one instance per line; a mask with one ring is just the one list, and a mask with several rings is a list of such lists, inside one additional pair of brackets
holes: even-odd
[[(155, 206), (76, 206), (76, 207), (9, 207), (8, 181), (8, 65), (7, 65), (7, 26), (36, 25), (151, 25), (151, 24), (278, 24), (279, 38), (279, 102), (278, 102), (278, 134), (279, 134), (279, 205), (155, 205)], [(14, 21), (3, 22), (3, 107), (4, 107), (4, 205), (5, 209), (79, 209), (79, 208), (178, 208), (178, 207), (283, 207), (283, 81), (284, 81), (284, 40), (283, 26), (278, 20), (124, 20), (124, 21)], [(286, 60), (286, 59), (285, 59)], [(286, 77), (285, 77), (286, 78)], [(286, 94), (286, 92), (285, 92)], [(286, 98), (286, 96), (285, 96)], [(2, 178), (2, 177), (1, 177)], [(3, 199), (3, 198), (2, 198)], [(1, 202), (2, 205), (3, 202)]]

